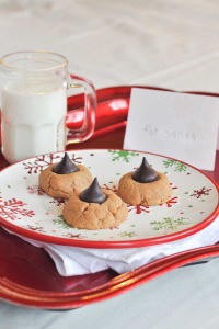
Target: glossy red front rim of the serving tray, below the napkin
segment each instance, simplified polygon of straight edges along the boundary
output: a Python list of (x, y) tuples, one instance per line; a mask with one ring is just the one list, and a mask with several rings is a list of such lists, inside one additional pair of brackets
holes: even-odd
[(175, 253), (137, 270), (117, 275), (105, 284), (83, 292), (53, 293), (15, 284), (0, 277), (0, 299), (15, 305), (44, 309), (72, 309), (106, 300), (137, 287), (174, 269), (200, 259), (219, 256), (219, 245), (201, 247)]

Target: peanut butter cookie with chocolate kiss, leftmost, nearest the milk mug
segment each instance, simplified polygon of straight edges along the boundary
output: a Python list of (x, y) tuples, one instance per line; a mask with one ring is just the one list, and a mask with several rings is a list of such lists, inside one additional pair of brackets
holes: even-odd
[(60, 162), (43, 170), (38, 178), (38, 186), (53, 197), (69, 198), (80, 194), (92, 182), (92, 174), (83, 164), (76, 164), (65, 152)]

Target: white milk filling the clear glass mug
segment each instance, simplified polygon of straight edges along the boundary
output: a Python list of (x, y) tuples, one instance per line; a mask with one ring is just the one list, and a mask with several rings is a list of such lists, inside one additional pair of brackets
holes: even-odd
[(66, 148), (65, 88), (11, 84), (1, 100), (2, 154), (10, 163)]

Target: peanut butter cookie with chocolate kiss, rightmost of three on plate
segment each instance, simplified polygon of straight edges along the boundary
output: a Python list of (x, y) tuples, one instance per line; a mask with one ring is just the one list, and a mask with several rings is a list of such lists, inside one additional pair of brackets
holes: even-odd
[(136, 171), (120, 178), (117, 194), (124, 202), (147, 206), (168, 202), (172, 189), (168, 177), (152, 169), (143, 157)]

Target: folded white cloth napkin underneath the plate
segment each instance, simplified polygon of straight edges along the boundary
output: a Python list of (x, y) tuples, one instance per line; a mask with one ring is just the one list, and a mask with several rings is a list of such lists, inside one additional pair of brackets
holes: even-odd
[(189, 237), (141, 248), (89, 249), (44, 243), (21, 236), (20, 238), (35, 247), (44, 248), (62, 276), (95, 273), (106, 269), (122, 274), (166, 256), (218, 242), (219, 216), (205, 229)]

